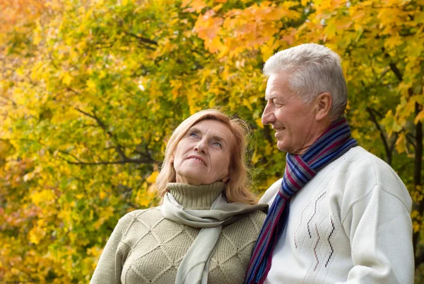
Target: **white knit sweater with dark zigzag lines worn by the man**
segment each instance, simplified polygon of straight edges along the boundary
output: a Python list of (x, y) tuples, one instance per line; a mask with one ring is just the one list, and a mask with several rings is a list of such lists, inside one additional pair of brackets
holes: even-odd
[[(259, 201), (271, 205), (281, 180)], [(412, 284), (411, 197), (362, 147), (318, 172), (290, 200), (266, 284)]]

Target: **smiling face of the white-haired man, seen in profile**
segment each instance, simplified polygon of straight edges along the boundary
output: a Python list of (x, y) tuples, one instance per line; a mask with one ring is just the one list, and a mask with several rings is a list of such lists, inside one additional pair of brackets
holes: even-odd
[(316, 103), (306, 104), (290, 91), (288, 77), (287, 72), (269, 76), (262, 124), (271, 124), (276, 130), (278, 149), (290, 154), (303, 154), (320, 135)]

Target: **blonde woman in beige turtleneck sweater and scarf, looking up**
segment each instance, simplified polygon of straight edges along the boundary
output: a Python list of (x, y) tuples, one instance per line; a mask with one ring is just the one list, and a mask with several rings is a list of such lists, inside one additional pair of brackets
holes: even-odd
[(184, 120), (156, 181), (163, 204), (119, 220), (90, 283), (243, 283), (266, 210), (247, 188), (246, 130), (218, 110)]

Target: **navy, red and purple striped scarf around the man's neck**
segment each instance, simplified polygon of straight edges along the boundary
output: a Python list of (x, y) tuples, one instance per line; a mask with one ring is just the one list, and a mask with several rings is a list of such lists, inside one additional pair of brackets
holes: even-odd
[(287, 154), (281, 188), (274, 199), (254, 246), (245, 284), (262, 284), (271, 268), (271, 258), (288, 220), (290, 198), (317, 171), (357, 145), (346, 118), (340, 118), (302, 155)]

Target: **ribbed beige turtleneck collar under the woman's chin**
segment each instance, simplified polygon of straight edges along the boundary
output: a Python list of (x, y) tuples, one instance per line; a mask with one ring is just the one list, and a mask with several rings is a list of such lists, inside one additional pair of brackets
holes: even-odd
[(184, 209), (208, 210), (225, 189), (225, 183), (216, 181), (211, 184), (194, 186), (187, 183), (168, 183), (167, 189)]

